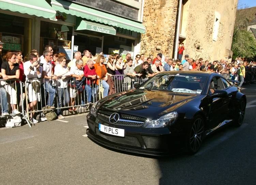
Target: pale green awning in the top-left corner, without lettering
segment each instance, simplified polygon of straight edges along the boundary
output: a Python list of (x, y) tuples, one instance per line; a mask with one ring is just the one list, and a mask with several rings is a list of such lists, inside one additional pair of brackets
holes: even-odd
[(52, 20), (56, 16), (56, 11), (45, 0), (0, 0), (0, 9)]

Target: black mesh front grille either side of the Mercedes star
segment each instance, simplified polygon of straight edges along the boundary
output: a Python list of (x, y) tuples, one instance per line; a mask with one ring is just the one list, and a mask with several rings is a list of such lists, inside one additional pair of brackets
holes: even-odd
[[(101, 119), (102, 121), (109, 123), (109, 116), (115, 112), (112, 111), (106, 111), (106, 110), (99, 110), (97, 117)], [(140, 117), (140, 116), (134, 116), (124, 113), (119, 113), (119, 116), (121, 120), (119, 120), (117, 123), (113, 125), (118, 126), (130, 126), (130, 127), (140, 127), (144, 124), (146, 121), (146, 118)]]

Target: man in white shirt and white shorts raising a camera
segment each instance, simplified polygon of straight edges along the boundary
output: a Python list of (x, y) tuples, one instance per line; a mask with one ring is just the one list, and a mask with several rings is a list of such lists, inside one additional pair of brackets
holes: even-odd
[[(37, 56), (35, 54), (29, 55), (29, 61), (24, 63), (24, 74), (26, 75), (26, 80), (33, 78), (41, 78), (42, 76), (42, 67), (40, 67)], [(33, 86), (34, 84), (38, 84), (38, 86)], [(28, 107), (27, 111), (35, 111), (37, 101), (40, 101), (40, 81), (39, 80), (28, 80), (26, 83), (27, 95), (28, 95)], [(38, 88), (38, 89), (37, 89)], [(37, 123), (38, 121), (34, 119), (34, 113), (30, 114), (31, 121), (33, 123)]]

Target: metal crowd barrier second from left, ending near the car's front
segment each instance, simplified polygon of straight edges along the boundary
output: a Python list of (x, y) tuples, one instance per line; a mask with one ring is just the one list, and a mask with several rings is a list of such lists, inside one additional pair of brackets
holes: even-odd
[[(59, 80), (61, 78), (58, 78)], [(37, 86), (35, 86), (35, 91), (37, 93), (34, 93), (35, 96), (31, 96), (31, 100), (29, 100), (28, 96), (31, 92), (28, 92), (29, 88), (28, 86), (32, 85), (33, 82), (37, 81), (40, 84), (40, 90), (37, 89)], [(32, 104), (32, 109), (26, 111), (27, 117), (29, 117), (30, 113), (40, 113), (39, 121), (41, 121), (41, 117), (43, 116), (42, 112), (44, 111), (53, 111), (53, 110), (59, 110), (59, 109), (69, 109), (70, 112), (74, 112), (72, 109), (74, 107), (80, 106), (86, 108), (89, 106), (90, 103), (88, 103), (88, 92), (91, 89), (91, 103), (95, 103), (98, 99), (96, 96), (96, 84), (95, 80), (91, 80), (91, 78), (88, 78), (89, 81), (89, 87), (87, 86), (87, 78), (82, 82), (81, 86), (84, 88), (81, 88), (81, 91), (79, 91), (75, 87), (74, 79), (72, 77), (66, 78), (65, 83), (67, 87), (57, 87), (57, 80), (51, 80), (48, 81), (48, 83), (44, 83), (44, 78), (33, 78), (28, 79), (25, 81), (25, 91), (26, 91), (26, 109), (28, 108), (29, 101), (37, 101), (36, 105)], [(52, 100), (50, 96), (50, 89), (53, 87), (55, 93), (54, 93), (54, 99)], [(81, 87), (79, 86), (79, 87)], [(31, 88), (30, 88), (31, 91)], [(79, 91), (79, 92), (78, 92)], [(71, 101), (71, 97), (72, 100)], [(74, 98), (74, 99), (73, 99)], [(53, 104), (51, 105), (51, 102), (53, 101)], [(48, 105), (48, 106), (47, 106)], [(55, 108), (53, 108), (55, 107)], [(72, 110), (70, 110), (72, 109)], [(58, 115), (58, 114), (57, 114)], [(28, 121), (29, 122), (29, 121)], [(33, 124), (33, 123), (32, 123)]]

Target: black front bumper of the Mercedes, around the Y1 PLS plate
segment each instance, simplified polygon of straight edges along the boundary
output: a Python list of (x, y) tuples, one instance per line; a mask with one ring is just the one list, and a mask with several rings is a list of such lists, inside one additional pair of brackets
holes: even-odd
[[(96, 143), (104, 146), (139, 154), (172, 155), (183, 151), (184, 135), (175, 133), (175, 129), (121, 127), (104, 123), (92, 115), (87, 116), (87, 135)], [(99, 131), (99, 123), (125, 130), (125, 136), (119, 137)]]

